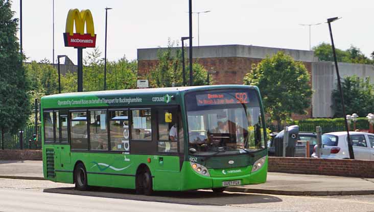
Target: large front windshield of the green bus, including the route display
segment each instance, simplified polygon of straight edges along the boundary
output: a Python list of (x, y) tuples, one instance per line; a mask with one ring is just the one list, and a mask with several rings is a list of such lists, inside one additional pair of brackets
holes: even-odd
[(186, 95), (189, 148), (197, 154), (265, 148), (258, 92), (213, 90)]

